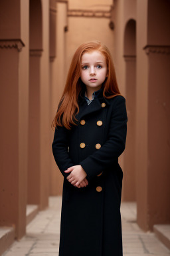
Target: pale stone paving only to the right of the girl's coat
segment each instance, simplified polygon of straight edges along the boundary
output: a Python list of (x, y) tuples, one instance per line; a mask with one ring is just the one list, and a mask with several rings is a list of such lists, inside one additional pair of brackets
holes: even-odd
[(154, 233), (139, 229), (135, 203), (122, 203), (121, 212), (124, 256), (170, 255), (169, 249), (159, 242)]

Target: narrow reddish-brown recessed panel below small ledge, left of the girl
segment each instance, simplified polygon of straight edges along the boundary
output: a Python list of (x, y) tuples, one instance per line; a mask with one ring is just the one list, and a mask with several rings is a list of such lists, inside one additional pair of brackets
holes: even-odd
[(29, 59), (29, 154), (27, 203), (41, 204), (41, 81), (42, 50), (31, 49)]

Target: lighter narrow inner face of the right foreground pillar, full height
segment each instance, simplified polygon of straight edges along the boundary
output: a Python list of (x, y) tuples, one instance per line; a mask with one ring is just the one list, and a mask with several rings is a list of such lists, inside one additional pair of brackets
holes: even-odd
[[(141, 11), (140, 11), (141, 9)], [(147, 1), (137, 4), (137, 93), (136, 93), (136, 159), (137, 173), (137, 221), (140, 227), (148, 229), (148, 181), (147, 181), (147, 120), (148, 120), (148, 75), (149, 66), (143, 47), (147, 45)], [(143, 103), (144, 102), (144, 103)], [(140, 203), (141, 202), (141, 203)], [(141, 221), (142, 220), (142, 221)]]

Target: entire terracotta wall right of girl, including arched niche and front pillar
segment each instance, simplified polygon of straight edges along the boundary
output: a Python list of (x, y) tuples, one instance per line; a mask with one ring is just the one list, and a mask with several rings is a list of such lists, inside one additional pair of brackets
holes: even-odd
[[(115, 60), (126, 92), (124, 200), (137, 223), (169, 223), (169, 1), (114, 1)], [(157, 36), (159, 35), (159, 36)]]

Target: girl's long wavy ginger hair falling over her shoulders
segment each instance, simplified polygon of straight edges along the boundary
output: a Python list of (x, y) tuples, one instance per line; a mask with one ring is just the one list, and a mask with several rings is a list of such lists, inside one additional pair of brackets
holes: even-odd
[(58, 110), (56, 111), (56, 115), (52, 121), (52, 128), (57, 126), (64, 126), (66, 129), (71, 129), (72, 125), (77, 125), (76, 121), (78, 120), (75, 116), (79, 112), (78, 97), (82, 91), (86, 89), (84, 83), (82, 83), (80, 79), (81, 59), (84, 53), (89, 53), (92, 51), (99, 51), (106, 58), (108, 74), (102, 85), (102, 87), (104, 87), (103, 97), (110, 99), (116, 95), (121, 95), (116, 80), (114, 63), (112, 61), (110, 51), (106, 45), (103, 45), (100, 43), (100, 41), (82, 43), (72, 58), (66, 79), (66, 85), (58, 104)]

